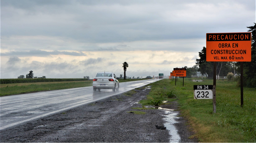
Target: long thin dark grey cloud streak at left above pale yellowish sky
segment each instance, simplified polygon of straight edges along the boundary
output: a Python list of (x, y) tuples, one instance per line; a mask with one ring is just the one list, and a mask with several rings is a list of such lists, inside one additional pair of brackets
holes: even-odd
[(82, 52), (68, 52), (68, 51), (43, 51), (43, 50), (31, 50), (31, 51), (9, 51), (1, 53), (1, 56), (38, 56), (44, 57), (48, 55), (73, 55), (73, 56), (86, 56)]

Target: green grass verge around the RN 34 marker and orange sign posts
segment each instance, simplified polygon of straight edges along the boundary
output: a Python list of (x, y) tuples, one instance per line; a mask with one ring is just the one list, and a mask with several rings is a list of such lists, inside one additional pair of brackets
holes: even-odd
[[(244, 106), (240, 107), (240, 87), (234, 80), (217, 80), (217, 111), (212, 99), (194, 99), (193, 85), (212, 85), (213, 80), (193, 82), (191, 78), (175, 81), (163, 79), (150, 84), (151, 92), (142, 105), (152, 101), (177, 100), (182, 116), (202, 142), (256, 142), (256, 89), (244, 88)], [(167, 97), (174, 93), (175, 98)], [(164, 104), (164, 103), (160, 103)], [(166, 104), (166, 103), (165, 103)]]

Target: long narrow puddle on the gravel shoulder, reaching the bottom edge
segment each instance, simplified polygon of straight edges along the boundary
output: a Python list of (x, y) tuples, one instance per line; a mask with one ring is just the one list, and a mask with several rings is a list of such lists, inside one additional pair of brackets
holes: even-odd
[(169, 135), (171, 137), (169, 138), (169, 143), (178, 143), (181, 138), (179, 137), (178, 130), (174, 126), (175, 123), (178, 123), (175, 119), (179, 118), (177, 117), (178, 113), (173, 113), (171, 111), (165, 111), (167, 115), (163, 115), (166, 118), (163, 118), (166, 122), (164, 123), (164, 126), (166, 127), (166, 130), (169, 130)]

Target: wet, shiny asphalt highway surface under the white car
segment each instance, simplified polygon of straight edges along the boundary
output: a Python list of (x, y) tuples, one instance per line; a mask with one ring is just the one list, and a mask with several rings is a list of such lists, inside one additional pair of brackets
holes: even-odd
[(93, 87), (84, 87), (0, 97), (0, 130), (127, 92), (156, 81), (158, 79), (122, 82), (119, 91), (116, 92), (112, 92), (111, 89), (93, 92)]

